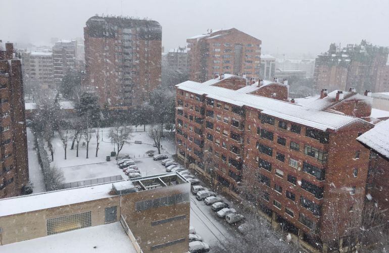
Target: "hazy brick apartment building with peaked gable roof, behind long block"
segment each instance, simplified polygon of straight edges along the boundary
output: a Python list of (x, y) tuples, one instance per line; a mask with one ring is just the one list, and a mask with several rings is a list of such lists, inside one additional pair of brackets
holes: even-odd
[(235, 28), (215, 30), (186, 39), (189, 78), (205, 82), (216, 75), (238, 74), (259, 79), (260, 39)]

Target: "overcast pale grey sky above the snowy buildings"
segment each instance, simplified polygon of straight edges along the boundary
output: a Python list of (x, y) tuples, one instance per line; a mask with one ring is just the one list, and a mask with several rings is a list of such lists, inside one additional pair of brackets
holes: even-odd
[(165, 51), (208, 28), (231, 27), (261, 39), (263, 53), (315, 55), (331, 42), (361, 39), (389, 46), (387, 0), (0, 0), (0, 39), (39, 45), (83, 37), (96, 13), (159, 21)]

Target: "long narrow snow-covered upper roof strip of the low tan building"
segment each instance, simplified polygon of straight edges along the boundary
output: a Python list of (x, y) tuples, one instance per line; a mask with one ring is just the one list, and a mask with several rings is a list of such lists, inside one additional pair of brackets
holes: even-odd
[(3, 198), (0, 199), (0, 216), (32, 212), (112, 197), (112, 195), (108, 194), (111, 189), (112, 183), (106, 183), (58, 191), (48, 191), (20, 197)]

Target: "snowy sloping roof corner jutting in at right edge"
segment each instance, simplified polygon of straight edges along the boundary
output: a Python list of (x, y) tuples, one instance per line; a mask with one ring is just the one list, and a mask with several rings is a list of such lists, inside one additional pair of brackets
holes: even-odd
[(374, 128), (359, 136), (357, 140), (389, 158), (389, 120), (377, 123)]

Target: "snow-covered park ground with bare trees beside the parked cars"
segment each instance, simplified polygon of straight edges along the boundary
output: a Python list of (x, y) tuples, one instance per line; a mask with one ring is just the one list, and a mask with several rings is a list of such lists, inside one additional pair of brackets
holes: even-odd
[[(143, 128), (138, 127), (138, 130), (143, 130)], [(62, 170), (65, 177), (64, 183), (115, 175), (122, 175), (123, 178), (127, 178), (124, 172), (118, 169), (115, 157), (111, 157), (110, 162), (106, 161), (106, 156), (109, 156), (111, 151), (114, 150), (114, 143), (109, 138), (109, 128), (103, 128), (101, 131), (103, 134), (100, 134), (98, 157), (95, 157), (96, 138), (92, 134), (92, 139), (89, 142), (88, 159), (86, 159), (86, 147), (82, 145), (83, 140), (80, 142), (78, 157), (76, 157), (76, 146), (74, 146), (73, 150), (70, 150), (72, 139), (69, 138), (67, 159), (65, 160), (62, 141), (58, 137), (58, 134), (55, 135), (53, 139), (54, 162), (52, 162), (52, 165)], [(153, 150), (154, 154), (158, 154), (157, 148), (153, 146), (154, 141), (149, 137), (148, 132), (134, 131), (131, 135), (129, 143), (124, 144), (123, 149), (119, 153), (119, 157), (130, 156), (135, 161), (143, 176), (166, 173), (165, 167), (160, 162), (154, 161), (153, 158), (147, 155), (147, 151), (149, 150)], [(142, 144), (135, 144), (135, 140), (142, 141)], [(163, 140), (162, 147), (161, 154), (173, 154), (173, 141)], [(50, 154), (50, 152), (47, 152), (47, 154)]]

